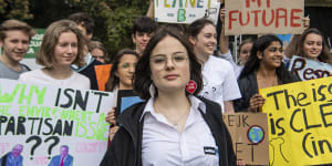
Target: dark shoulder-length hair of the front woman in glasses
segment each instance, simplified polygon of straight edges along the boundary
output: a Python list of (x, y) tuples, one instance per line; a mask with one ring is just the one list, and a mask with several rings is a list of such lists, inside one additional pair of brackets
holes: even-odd
[[(178, 31), (175, 31), (175, 29), (160, 27), (160, 29), (157, 30), (156, 34), (149, 40), (148, 44), (146, 45), (143, 55), (136, 65), (134, 74), (134, 91), (136, 91), (137, 94), (144, 100), (148, 100), (151, 97), (149, 86), (153, 83), (153, 81), (151, 80), (152, 71), (149, 68), (151, 53), (155, 49), (155, 46), (166, 37), (173, 37), (177, 39), (188, 52), (190, 80), (194, 80), (197, 84), (197, 89), (194, 92), (194, 95), (197, 95), (203, 89), (201, 65), (196, 59), (193, 52), (193, 48), (186, 37), (184, 37), (184, 34), (179, 33)], [(188, 95), (188, 92), (186, 92), (186, 94)]]

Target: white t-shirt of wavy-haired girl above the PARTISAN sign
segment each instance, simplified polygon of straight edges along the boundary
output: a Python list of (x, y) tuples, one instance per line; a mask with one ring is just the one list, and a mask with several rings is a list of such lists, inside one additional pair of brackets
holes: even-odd
[(73, 72), (73, 74), (68, 79), (56, 80), (45, 74), (41, 69), (38, 69), (21, 74), (19, 81), (56, 85), (70, 89), (90, 90), (90, 80), (76, 72)]

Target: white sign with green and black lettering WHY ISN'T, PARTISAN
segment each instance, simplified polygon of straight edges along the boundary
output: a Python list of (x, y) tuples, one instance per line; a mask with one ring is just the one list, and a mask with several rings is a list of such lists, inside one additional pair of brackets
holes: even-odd
[[(0, 158), (18, 165), (98, 165), (107, 148), (113, 93), (0, 79)], [(1, 163), (0, 162), (0, 163)]]

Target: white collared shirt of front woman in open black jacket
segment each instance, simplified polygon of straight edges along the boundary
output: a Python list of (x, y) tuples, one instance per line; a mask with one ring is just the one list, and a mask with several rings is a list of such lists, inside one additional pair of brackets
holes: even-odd
[(205, 104), (190, 96), (190, 113), (183, 133), (157, 114), (149, 98), (144, 116), (142, 163), (144, 166), (216, 166), (219, 165), (219, 152), (212, 133), (198, 107), (206, 113)]

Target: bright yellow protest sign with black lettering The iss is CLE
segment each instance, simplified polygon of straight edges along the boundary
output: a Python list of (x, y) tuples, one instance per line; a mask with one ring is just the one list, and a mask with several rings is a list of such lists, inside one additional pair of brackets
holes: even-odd
[(260, 94), (271, 166), (332, 163), (332, 77), (262, 89)]

